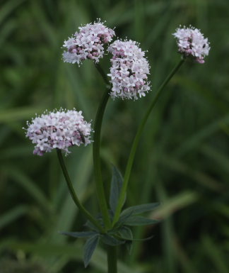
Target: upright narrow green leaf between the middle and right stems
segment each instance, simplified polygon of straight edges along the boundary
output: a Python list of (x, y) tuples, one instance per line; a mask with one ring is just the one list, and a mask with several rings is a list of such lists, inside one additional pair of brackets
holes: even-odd
[(112, 212), (115, 213), (118, 201), (119, 201), (119, 194), (122, 189), (123, 178), (122, 174), (120, 174), (119, 170), (113, 166), (112, 167), (112, 181), (110, 185), (110, 208)]

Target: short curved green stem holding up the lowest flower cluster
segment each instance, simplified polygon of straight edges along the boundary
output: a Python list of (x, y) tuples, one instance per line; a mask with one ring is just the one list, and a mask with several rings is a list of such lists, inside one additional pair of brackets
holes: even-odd
[(57, 149), (57, 156), (58, 156), (58, 159), (59, 159), (59, 164), (61, 165), (61, 169), (62, 169), (63, 174), (64, 174), (64, 178), (66, 180), (66, 184), (68, 185), (68, 188), (69, 188), (71, 197), (74, 200), (74, 203), (76, 204), (76, 206), (78, 206), (78, 209), (81, 211), (81, 213), (83, 213), (84, 216), (86, 216), (86, 218), (88, 218), (88, 220), (91, 223), (93, 223), (93, 225), (95, 225), (96, 228), (98, 228), (98, 230), (100, 230), (101, 233), (105, 233), (105, 230), (104, 230), (104, 228), (102, 228), (102, 225), (100, 225), (98, 223), (98, 221), (96, 221), (95, 218), (93, 218), (93, 216), (89, 213), (89, 211), (87, 211), (86, 208), (84, 208), (84, 206), (81, 204), (78, 197), (76, 196), (76, 192), (74, 191), (74, 186), (71, 183), (69, 173), (68, 173), (68, 171), (66, 169), (66, 165), (64, 163), (64, 158), (63, 158), (62, 152), (59, 149)]

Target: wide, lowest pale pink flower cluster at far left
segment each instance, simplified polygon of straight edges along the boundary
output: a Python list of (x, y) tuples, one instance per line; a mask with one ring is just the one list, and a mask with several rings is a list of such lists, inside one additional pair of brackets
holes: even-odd
[(44, 155), (45, 152), (58, 148), (69, 153), (68, 148), (73, 145), (87, 145), (90, 143), (90, 123), (84, 121), (82, 111), (63, 110), (45, 111), (36, 116), (32, 123), (27, 121), (26, 137), (35, 144), (33, 153)]

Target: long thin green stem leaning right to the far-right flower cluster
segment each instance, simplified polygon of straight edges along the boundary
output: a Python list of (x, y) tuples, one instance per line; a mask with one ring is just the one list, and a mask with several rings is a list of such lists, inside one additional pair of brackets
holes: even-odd
[(131, 152), (129, 154), (129, 159), (128, 159), (128, 162), (127, 162), (127, 168), (126, 168), (126, 171), (125, 171), (125, 174), (124, 174), (124, 182), (123, 182), (123, 185), (122, 185), (122, 190), (121, 190), (121, 193), (120, 193), (120, 196), (119, 196), (119, 201), (118, 201), (118, 204), (117, 204), (117, 209), (116, 209), (115, 214), (114, 214), (114, 220), (113, 220), (112, 225), (114, 225), (119, 220), (119, 215), (120, 215), (120, 213), (122, 211), (122, 205), (124, 204), (125, 194), (127, 192), (127, 185), (128, 185), (129, 177), (130, 177), (130, 174), (131, 174), (131, 168), (132, 168), (132, 165), (133, 165), (133, 162), (134, 162), (134, 156), (135, 156), (135, 153), (136, 153), (136, 148), (137, 148), (137, 146), (139, 144), (139, 140), (141, 138), (141, 133), (142, 133), (143, 128), (144, 128), (144, 126), (146, 124), (146, 121), (148, 120), (148, 116), (150, 115), (151, 111), (153, 110), (153, 107), (155, 106), (155, 103), (158, 101), (159, 96), (161, 94), (161, 91), (163, 91), (166, 84), (168, 84), (168, 82), (170, 81), (172, 76), (177, 72), (177, 70), (180, 68), (180, 66), (183, 64), (183, 62), (184, 62), (184, 60), (182, 59), (174, 67), (174, 69), (172, 69), (172, 71), (170, 72), (168, 77), (165, 79), (163, 84), (160, 85), (160, 87), (159, 87), (159, 89), (158, 89), (158, 91), (157, 91), (151, 105), (149, 106), (148, 110), (146, 111), (145, 116), (143, 117), (143, 120), (141, 121), (139, 129), (137, 130), (136, 136), (134, 138), (134, 142), (133, 142), (132, 147), (131, 147)]

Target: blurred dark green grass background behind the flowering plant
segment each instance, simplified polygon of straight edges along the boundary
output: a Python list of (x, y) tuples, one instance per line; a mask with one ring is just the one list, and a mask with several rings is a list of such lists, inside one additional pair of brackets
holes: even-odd
[[(1, 1), (0, 8), (0, 272), (106, 272), (100, 246), (83, 269), (82, 241), (58, 231), (83, 229), (85, 219), (66, 189), (54, 152), (33, 155), (22, 129), (35, 113), (60, 106), (93, 120), (104, 84), (93, 63), (62, 62), (63, 41), (96, 18), (117, 36), (137, 40), (151, 63), (150, 93), (110, 100), (102, 128), (107, 189), (113, 163), (124, 173), (131, 141), (146, 107), (180, 60), (171, 33), (200, 28), (211, 50), (204, 65), (186, 63), (166, 87), (137, 150), (127, 205), (162, 201), (160, 225), (136, 228), (132, 255), (119, 252), (119, 273), (229, 272), (229, 2)], [(102, 67), (108, 72), (109, 57)], [(92, 147), (66, 158), (81, 201), (98, 211)]]

